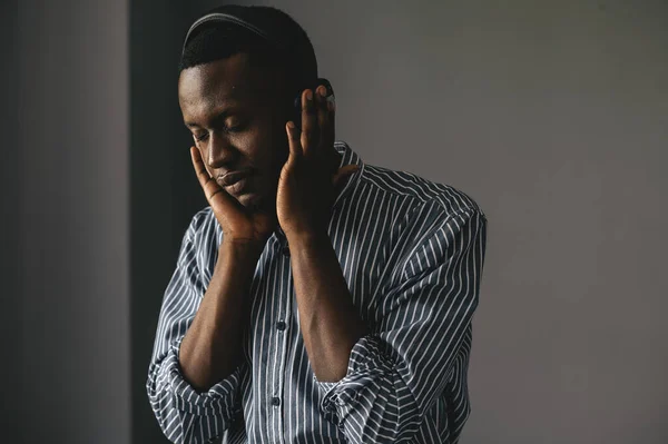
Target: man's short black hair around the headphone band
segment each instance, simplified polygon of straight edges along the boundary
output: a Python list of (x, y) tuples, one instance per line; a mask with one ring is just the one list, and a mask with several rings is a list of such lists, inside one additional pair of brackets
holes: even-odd
[(179, 62), (179, 72), (184, 69), (226, 59), (236, 53), (245, 52), (252, 56), (254, 63), (263, 67), (285, 68), (291, 83), (295, 88), (310, 86), (317, 79), (317, 61), (306, 31), (287, 13), (272, 7), (247, 7), (252, 13), (276, 16), (276, 26), (286, 32), (296, 34), (294, 38), (302, 51), (292, 48), (281, 49), (264, 37), (243, 27), (232, 23), (210, 22), (200, 26), (190, 36)]

